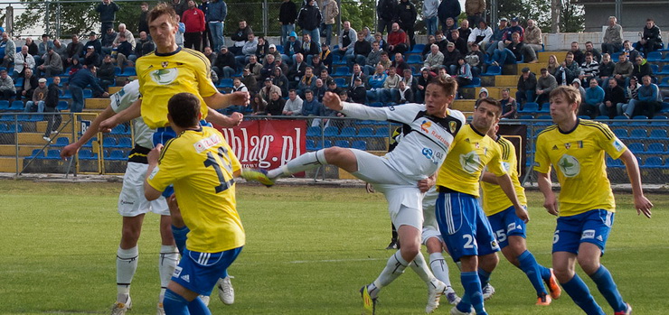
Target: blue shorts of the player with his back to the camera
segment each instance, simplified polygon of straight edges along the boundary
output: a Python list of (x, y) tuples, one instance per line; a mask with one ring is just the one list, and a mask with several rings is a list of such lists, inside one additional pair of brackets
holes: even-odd
[(213, 286), (226, 274), (228, 267), (240, 255), (241, 247), (219, 253), (200, 253), (184, 250), (172, 281), (200, 295), (212, 294)]

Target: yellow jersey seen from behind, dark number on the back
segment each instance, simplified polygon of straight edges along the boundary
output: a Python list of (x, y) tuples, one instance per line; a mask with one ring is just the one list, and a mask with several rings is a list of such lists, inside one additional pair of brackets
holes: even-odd
[(188, 233), (186, 248), (218, 253), (243, 246), (234, 171), (241, 168), (223, 135), (210, 127), (186, 130), (165, 144), (147, 182), (163, 191), (174, 184)]

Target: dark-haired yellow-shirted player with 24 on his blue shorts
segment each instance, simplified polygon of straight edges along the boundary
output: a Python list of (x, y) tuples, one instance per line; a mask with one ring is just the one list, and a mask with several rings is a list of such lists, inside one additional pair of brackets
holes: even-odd
[(502, 166), (499, 145), (486, 135), (501, 115), (502, 105), (494, 98), (476, 101), (471, 124), (457, 133), (437, 175), (439, 196), (435, 214), (448, 253), (462, 264), (460, 280), (465, 288), (462, 300), (451, 309), (454, 315), (469, 314), (472, 307), (478, 315), (487, 314), (481, 287), (487, 284), (499, 261), (495, 234), (478, 203), (478, 181), (486, 165), (514, 204), (518, 218), (528, 220), (511, 177)]

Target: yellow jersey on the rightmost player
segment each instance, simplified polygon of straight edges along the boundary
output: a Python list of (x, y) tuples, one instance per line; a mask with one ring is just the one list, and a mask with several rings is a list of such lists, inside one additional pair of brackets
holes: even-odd
[(534, 171), (550, 173), (551, 165), (555, 166), (561, 217), (596, 208), (615, 211), (604, 153), (617, 159), (626, 150), (608, 125), (579, 119), (569, 132), (551, 125), (537, 136)]

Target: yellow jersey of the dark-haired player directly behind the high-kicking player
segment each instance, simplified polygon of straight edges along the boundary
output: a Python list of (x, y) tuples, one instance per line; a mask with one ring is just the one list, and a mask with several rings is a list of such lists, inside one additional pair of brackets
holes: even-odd
[(496, 176), (506, 173), (502, 167), (502, 153), (495, 140), (481, 134), (471, 124), (464, 125), (439, 168), (437, 185), (478, 198), (478, 181), (486, 165)]

